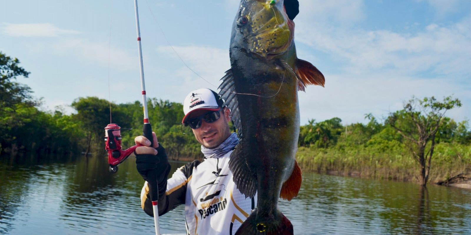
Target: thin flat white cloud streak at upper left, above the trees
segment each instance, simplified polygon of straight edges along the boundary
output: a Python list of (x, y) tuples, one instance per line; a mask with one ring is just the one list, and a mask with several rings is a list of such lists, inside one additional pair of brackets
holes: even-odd
[(0, 32), (11, 37), (57, 37), (62, 34), (79, 34), (79, 31), (60, 29), (54, 24), (2, 23)]

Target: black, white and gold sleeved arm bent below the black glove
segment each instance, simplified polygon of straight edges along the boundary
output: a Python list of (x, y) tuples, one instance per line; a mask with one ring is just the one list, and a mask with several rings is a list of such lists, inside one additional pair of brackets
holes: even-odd
[[(157, 204), (159, 208), (159, 216), (175, 209), (181, 204), (185, 204), (187, 185), (192, 178), (193, 169), (195, 169), (198, 164), (200, 164), (200, 161), (198, 160), (188, 163), (180, 167), (173, 173), (170, 179), (166, 180), (165, 194), (159, 195), (159, 201)], [(159, 183), (159, 186), (160, 185), (161, 183)], [(159, 191), (161, 190), (159, 189)], [(154, 216), (147, 182), (144, 183), (144, 187), (141, 190), (141, 206), (146, 214)]]

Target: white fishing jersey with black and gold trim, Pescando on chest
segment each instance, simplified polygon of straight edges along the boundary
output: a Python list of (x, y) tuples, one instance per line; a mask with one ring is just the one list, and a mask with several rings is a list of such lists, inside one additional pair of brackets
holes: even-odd
[[(220, 157), (194, 161), (180, 167), (167, 181), (159, 215), (185, 204), (188, 235), (233, 235), (257, 203), (257, 196), (245, 198), (229, 170), (232, 151)], [(141, 191), (144, 211), (152, 215), (147, 182)]]

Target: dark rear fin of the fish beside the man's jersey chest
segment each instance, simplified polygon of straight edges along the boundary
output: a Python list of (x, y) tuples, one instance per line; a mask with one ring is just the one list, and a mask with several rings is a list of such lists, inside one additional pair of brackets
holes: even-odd
[(235, 146), (234, 151), (231, 153), (229, 159), (229, 170), (232, 172), (232, 178), (237, 186), (237, 189), (247, 197), (255, 196), (257, 192), (257, 177), (250, 170), (245, 160), (246, 154), (242, 149), (243, 140), (240, 140), (239, 144)]

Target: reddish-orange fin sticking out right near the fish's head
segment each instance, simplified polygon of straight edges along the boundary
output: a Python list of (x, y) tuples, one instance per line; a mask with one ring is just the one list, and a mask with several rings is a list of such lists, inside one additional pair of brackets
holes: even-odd
[(298, 82), (298, 91), (304, 91), (304, 86), (308, 85), (318, 85), (324, 87), (324, 75), (316, 68), (316, 66), (305, 60), (297, 59), (296, 74), (298, 75), (299, 79), (301, 79), (301, 81)]

